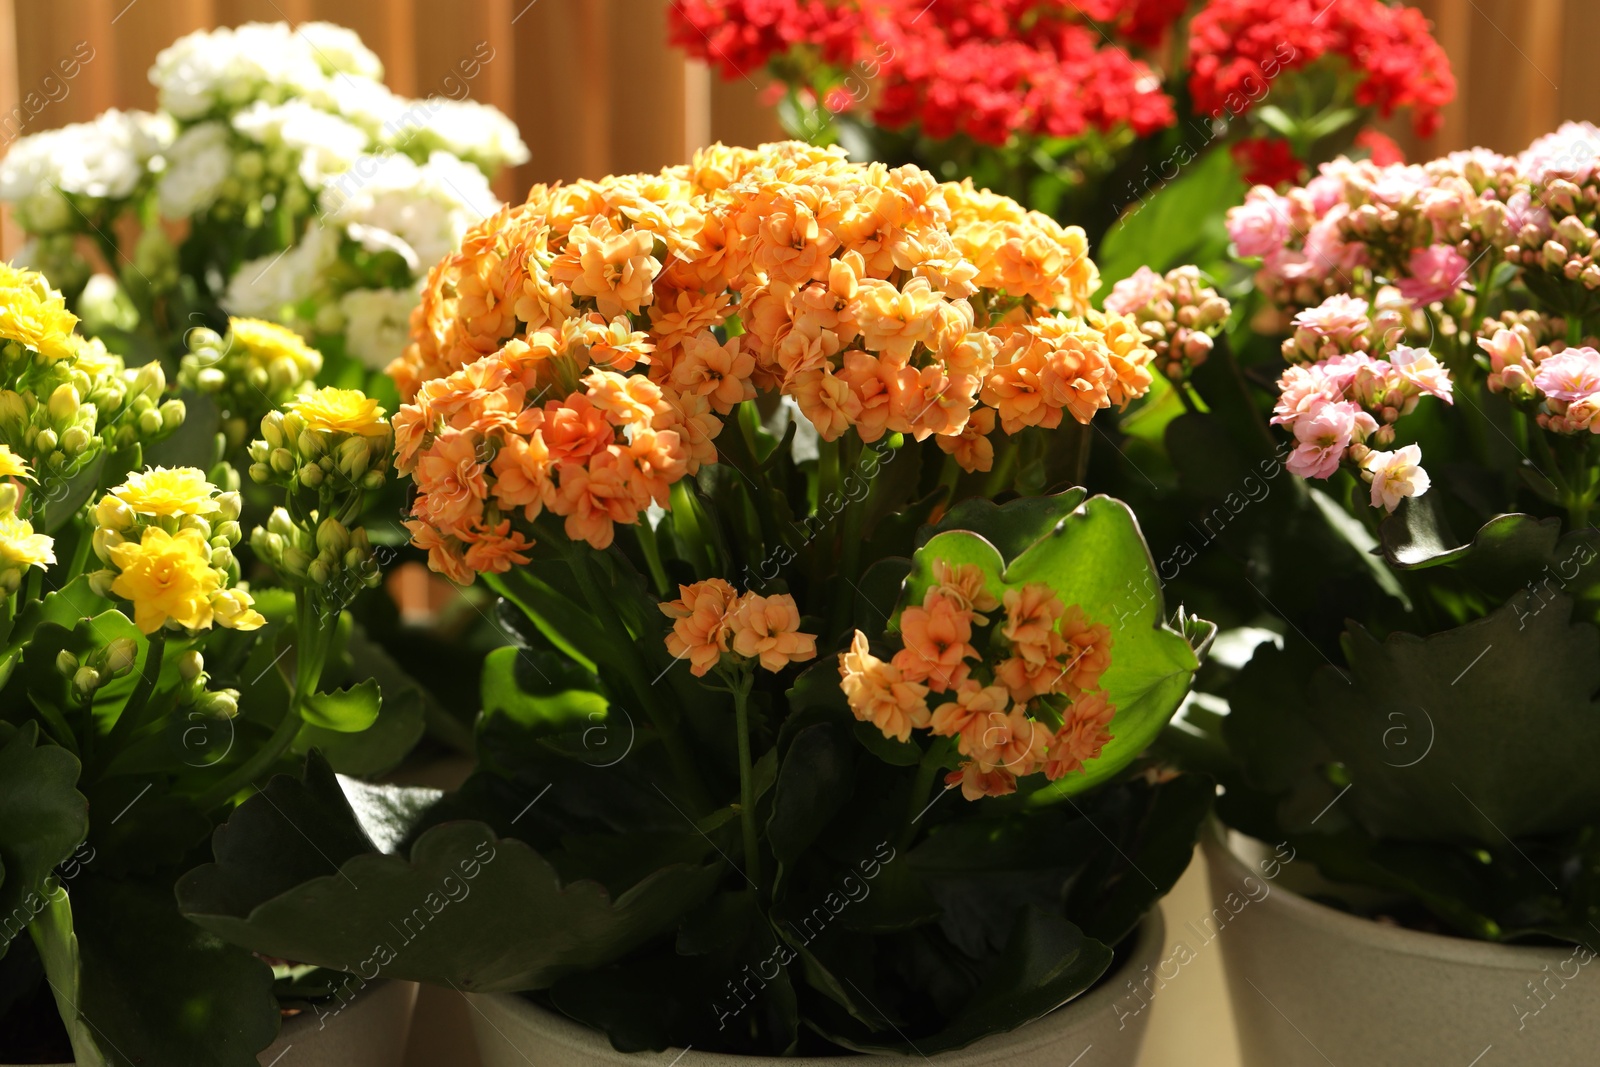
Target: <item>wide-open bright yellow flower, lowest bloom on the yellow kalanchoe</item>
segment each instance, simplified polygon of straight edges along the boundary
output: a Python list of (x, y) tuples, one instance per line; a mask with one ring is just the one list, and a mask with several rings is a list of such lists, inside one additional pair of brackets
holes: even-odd
[(138, 542), (110, 547), (110, 561), (120, 571), (110, 592), (133, 603), (133, 621), (154, 633), (168, 621), (187, 630), (211, 627), (211, 595), (222, 579), (211, 569), (211, 549), (198, 530), (176, 536), (147, 526)]

